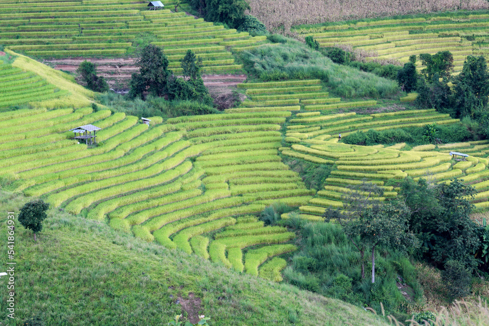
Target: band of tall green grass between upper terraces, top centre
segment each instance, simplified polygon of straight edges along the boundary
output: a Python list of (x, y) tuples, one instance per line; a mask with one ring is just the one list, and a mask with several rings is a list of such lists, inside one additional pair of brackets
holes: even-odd
[(331, 87), (334, 94), (346, 98), (389, 97), (399, 90), (392, 80), (334, 64), (292, 39), (244, 51), (241, 59), (247, 72), (263, 81), (317, 78)]

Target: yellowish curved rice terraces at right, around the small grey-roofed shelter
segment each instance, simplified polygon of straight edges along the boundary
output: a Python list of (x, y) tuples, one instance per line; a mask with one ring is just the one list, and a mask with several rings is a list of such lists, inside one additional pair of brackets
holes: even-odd
[[(400, 189), (384, 186), (384, 183), (406, 176), (415, 180), (424, 177), (430, 182), (449, 182), (453, 177), (463, 179), (478, 191), (472, 201), (476, 211), (487, 211), (489, 141), (422, 145), (406, 151), (404, 143), (385, 148), (381, 145), (367, 147), (339, 143), (337, 138), (338, 133), (344, 136), (354, 130), (385, 130), (456, 122), (457, 119), (430, 109), (370, 115), (357, 115), (355, 112), (330, 115), (323, 115), (319, 111), (298, 113), (287, 127), (288, 136), (285, 139), (290, 147), (281, 148), (282, 154), (335, 167), (326, 179), (324, 190), (319, 191), (308, 205), (300, 207), (301, 216), (321, 220), (327, 207), (343, 208), (343, 196), (352, 192), (351, 186), (363, 180), (383, 188), (384, 194), (378, 200), (395, 197)], [(467, 161), (456, 161), (448, 154), (450, 151), (470, 156)]]

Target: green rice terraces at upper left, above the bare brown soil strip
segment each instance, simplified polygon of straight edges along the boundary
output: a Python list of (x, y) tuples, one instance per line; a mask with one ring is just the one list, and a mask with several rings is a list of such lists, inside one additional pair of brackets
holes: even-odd
[[(0, 3), (0, 44), (7, 49), (43, 58), (126, 56), (135, 39), (148, 38), (162, 46), (169, 68), (181, 71), (187, 49), (203, 59), (206, 72), (242, 68), (230, 49), (244, 50), (264, 43), (222, 25), (204, 22), (185, 12), (148, 10), (147, 2), (104, 0), (18, 1)], [(171, 8), (172, 1), (163, 1)]]

